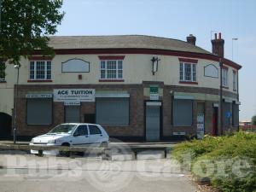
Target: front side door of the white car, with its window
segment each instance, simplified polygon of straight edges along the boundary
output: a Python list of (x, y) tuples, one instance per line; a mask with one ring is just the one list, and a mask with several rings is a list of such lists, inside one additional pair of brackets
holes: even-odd
[(88, 144), (90, 144), (88, 127), (87, 125), (79, 125), (76, 131), (73, 133), (73, 145), (87, 146)]

